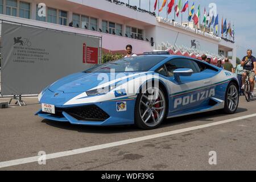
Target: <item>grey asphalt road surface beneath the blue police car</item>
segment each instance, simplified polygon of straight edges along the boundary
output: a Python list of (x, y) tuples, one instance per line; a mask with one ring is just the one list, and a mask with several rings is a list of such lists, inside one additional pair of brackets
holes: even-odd
[[(24, 100), (27, 106), (0, 109), (0, 170), (256, 170), (256, 100), (241, 97), (233, 115), (211, 111), (172, 118), (149, 131), (47, 121), (34, 115), (40, 108), (36, 98)], [(122, 141), (127, 139), (134, 141)], [(79, 152), (68, 155), (70, 150)], [(52, 159), (28, 163), (39, 151)], [(209, 164), (210, 151), (216, 164)]]

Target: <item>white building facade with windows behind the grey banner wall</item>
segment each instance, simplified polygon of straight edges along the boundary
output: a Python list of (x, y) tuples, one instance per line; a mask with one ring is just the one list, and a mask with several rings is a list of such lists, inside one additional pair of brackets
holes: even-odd
[[(42, 9), (40, 3), (46, 5), (46, 16), (38, 14)], [(232, 64), (236, 65), (234, 42), (113, 1), (0, 0), (0, 19), (101, 36), (103, 52), (125, 53), (127, 44), (137, 54), (154, 49), (184, 49), (219, 59), (229, 52)], [(71, 22), (73, 27), (69, 26)]]

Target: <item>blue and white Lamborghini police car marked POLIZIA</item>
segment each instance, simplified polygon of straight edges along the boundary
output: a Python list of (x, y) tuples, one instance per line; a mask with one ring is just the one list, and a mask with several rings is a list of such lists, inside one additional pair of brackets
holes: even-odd
[(36, 115), (76, 125), (155, 129), (165, 118), (238, 107), (236, 75), (184, 56), (134, 56), (97, 65), (49, 85)]

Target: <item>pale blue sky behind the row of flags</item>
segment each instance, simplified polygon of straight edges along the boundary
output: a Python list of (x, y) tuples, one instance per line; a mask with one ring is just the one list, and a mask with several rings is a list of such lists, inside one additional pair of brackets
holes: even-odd
[[(125, 3), (130, 3), (130, 5), (135, 5), (139, 7), (139, 0), (121, 0)], [(160, 6), (164, 0), (158, 0)], [(170, 2), (171, 0), (167, 0)], [(179, 0), (175, 0), (178, 3)], [(186, 0), (182, 0), (183, 5)], [(237, 57), (242, 59), (246, 55), (246, 50), (248, 48), (252, 49), (256, 56), (256, 0), (189, 0), (189, 10), (193, 2), (195, 2), (195, 10), (197, 12), (197, 7), (200, 5), (201, 10), (201, 23), (203, 22), (204, 16), (204, 7), (209, 11), (209, 4), (216, 3), (217, 5), (217, 14), (220, 20), (222, 16), (227, 21), (231, 22), (232, 26), (234, 24), (234, 34), (235, 34), (235, 43), (237, 46)], [(150, 3), (150, 6), (149, 6)], [(141, 8), (150, 11), (154, 11), (155, 0), (141, 0)], [(158, 8), (156, 8), (156, 15), (158, 15)], [(164, 7), (163, 11), (160, 12), (160, 16), (164, 18), (167, 17), (167, 6)], [(187, 20), (188, 10), (183, 13), (183, 22)], [(174, 19), (174, 9), (172, 13), (168, 15), (169, 19)], [(176, 18), (176, 22), (181, 22), (181, 16)], [(221, 26), (220, 26), (221, 28)]]

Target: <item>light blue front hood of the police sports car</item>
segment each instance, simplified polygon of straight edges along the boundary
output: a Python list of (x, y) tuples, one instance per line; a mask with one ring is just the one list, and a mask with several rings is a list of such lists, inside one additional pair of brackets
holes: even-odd
[[(122, 76), (134, 75), (135, 72), (125, 72)], [(137, 72), (138, 73), (138, 72)], [(117, 75), (117, 74), (115, 74)], [(114, 79), (111, 78), (112, 80)], [(75, 73), (54, 82), (49, 86), (52, 92), (77, 93), (85, 92), (110, 80), (110, 73)]]

